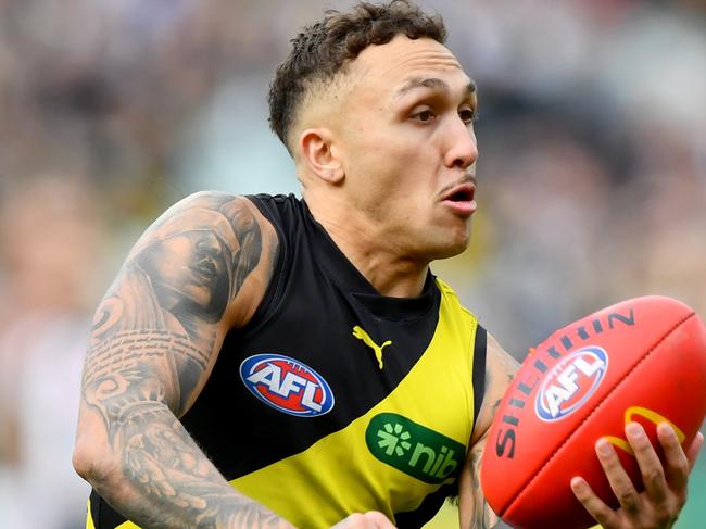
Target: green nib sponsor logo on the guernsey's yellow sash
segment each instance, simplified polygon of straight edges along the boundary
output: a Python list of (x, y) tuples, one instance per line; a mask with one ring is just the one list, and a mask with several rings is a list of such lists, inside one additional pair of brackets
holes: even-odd
[(466, 448), (402, 415), (381, 413), (365, 431), (370, 453), (427, 483), (441, 483), (463, 464)]

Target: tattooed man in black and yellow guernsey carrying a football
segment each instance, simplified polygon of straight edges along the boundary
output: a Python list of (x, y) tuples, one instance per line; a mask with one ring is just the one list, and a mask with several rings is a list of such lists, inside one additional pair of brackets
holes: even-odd
[[(476, 210), (476, 87), (444, 39), (405, 1), (305, 28), (269, 95), (303, 201), (200, 193), (137, 242), (86, 360), (88, 527), (418, 527), (456, 490), (494, 525), (478, 471), (516, 364), (429, 272)], [(697, 446), (660, 431), (666, 468), (628, 437), (650, 494), (612, 451), (623, 508), (571, 483), (605, 527), (676, 519)]]

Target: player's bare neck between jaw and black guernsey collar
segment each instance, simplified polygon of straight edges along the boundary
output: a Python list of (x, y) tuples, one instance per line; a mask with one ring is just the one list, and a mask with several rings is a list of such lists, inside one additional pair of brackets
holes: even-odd
[(388, 238), (383, 234), (355, 222), (350, 215), (340, 218), (330, 209), (308, 206), (336, 245), (380, 294), (392, 298), (421, 294), (429, 269), (427, 261), (401, 255), (384, 244)]

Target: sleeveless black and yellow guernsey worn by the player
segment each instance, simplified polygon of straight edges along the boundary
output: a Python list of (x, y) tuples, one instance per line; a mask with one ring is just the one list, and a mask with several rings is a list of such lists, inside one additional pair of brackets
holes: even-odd
[[(420, 527), (455, 491), (484, 329), (431, 273), (418, 298), (379, 295), (303, 201), (249, 198), (277, 229), (277, 268), (185, 427), (232, 487), (297, 527), (370, 509)], [(87, 527), (137, 526), (93, 492)]]

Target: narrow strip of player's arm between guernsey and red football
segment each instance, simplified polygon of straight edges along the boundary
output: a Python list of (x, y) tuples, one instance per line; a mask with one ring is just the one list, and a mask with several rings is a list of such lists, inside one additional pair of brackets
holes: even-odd
[(458, 514), (462, 529), (486, 529), (499, 522), (497, 516), (486, 502), (480, 488), (480, 464), (488, 442), (488, 430), (503, 394), (517, 371), (518, 364), (490, 335), (488, 335), (486, 362), (483, 403), (474, 427), (466, 465), (459, 478)]

